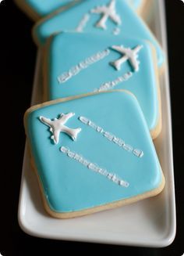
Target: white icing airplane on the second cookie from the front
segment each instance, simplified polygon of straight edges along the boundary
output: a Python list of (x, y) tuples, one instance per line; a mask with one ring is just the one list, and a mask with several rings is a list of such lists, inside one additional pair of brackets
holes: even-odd
[(122, 58), (115, 60), (114, 62), (111, 62), (110, 64), (115, 67), (116, 70), (120, 70), (122, 63), (126, 62), (126, 60), (129, 60), (129, 63), (132, 65), (133, 69), (135, 71), (139, 70), (140, 61), (137, 60), (138, 58), (138, 52), (140, 52), (140, 49), (143, 48), (143, 45), (137, 45), (134, 49), (125, 48), (122, 45), (113, 45), (111, 46), (111, 49), (114, 49), (117, 52), (122, 53)]

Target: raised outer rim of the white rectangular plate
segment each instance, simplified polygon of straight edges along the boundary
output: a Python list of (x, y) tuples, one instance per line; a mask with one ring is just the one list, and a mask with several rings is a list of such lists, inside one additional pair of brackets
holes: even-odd
[[(26, 157), (27, 157), (27, 142), (25, 145), (25, 150), (24, 150), (24, 156), (23, 156), (23, 171), (22, 171), (22, 178), (21, 178), (21, 186), (20, 186), (20, 191), (19, 191), (19, 209), (18, 209), (18, 222), (19, 226), (21, 229), (23, 229), (23, 232), (29, 234), (30, 236), (37, 236), (40, 238), (48, 238), (48, 239), (54, 239), (54, 240), (69, 240), (69, 241), (78, 241), (78, 242), (88, 242), (88, 243), (108, 243), (108, 244), (115, 244), (115, 245), (128, 245), (128, 246), (139, 246), (139, 247), (167, 247), (170, 245), (173, 240), (175, 239), (175, 233), (176, 233), (176, 214), (175, 214), (175, 179), (174, 179), (174, 167), (173, 167), (173, 149), (172, 149), (172, 111), (171, 111), (171, 99), (170, 99), (170, 92), (169, 92), (169, 74), (168, 74), (168, 47), (167, 47), (167, 34), (166, 34), (166, 18), (165, 18), (165, 4), (164, 1), (162, 0), (156, 0), (157, 1), (157, 6), (159, 8), (158, 12), (158, 19), (156, 20), (156, 28), (158, 28), (157, 34), (160, 35), (160, 41), (163, 45), (163, 48), (165, 49), (165, 57), (166, 57), (166, 63), (165, 63), (165, 88), (166, 88), (166, 109), (168, 111), (168, 164), (170, 167), (170, 171), (168, 172), (168, 178), (170, 178), (171, 182), (171, 199), (170, 199), (170, 204), (171, 204), (171, 218), (170, 220), (170, 225), (168, 232), (165, 233), (165, 236), (163, 236), (162, 240), (154, 240), (154, 241), (149, 241), (149, 243), (144, 243), (143, 241), (141, 242), (136, 240), (136, 241), (125, 241), (125, 240), (111, 240), (109, 239), (103, 239), (103, 238), (91, 238), (89, 236), (75, 236), (74, 235), (61, 235), (58, 237), (57, 235), (53, 234), (46, 234), (46, 233), (41, 233), (39, 230), (34, 230), (31, 228), (29, 224), (27, 224), (26, 219), (24, 218), (23, 215), (23, 195), (24, 195), (24, 190), (26, 188), (26, 181), (25, 181), (25, 163), (26, 163)], [(160, 26), (159, 26), (160, 25)], [(39, 61), (38, 59), (41, 58), (41, 49), (38, 49), (37, 52), (37, 64), (35, 67), (35, 74), (34, 74), (34, 89), (32, 93), (32, 100), (31, 104), (34, 103), (34, 95), (36, 91), (36, 83), (37, 83), (37, 74), (39, 73)]]

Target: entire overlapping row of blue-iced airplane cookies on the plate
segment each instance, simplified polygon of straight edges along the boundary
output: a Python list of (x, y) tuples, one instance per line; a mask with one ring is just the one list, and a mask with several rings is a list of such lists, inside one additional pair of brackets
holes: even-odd
[(161, 132), (165, 56), (135, 11), (145, 3), (21, 1), (34, 20), (48, 15), (33, 30), (44, 103), (24, 122), (44, 207), (55, 218), (130, 204), (165, 186), (152, 141)]

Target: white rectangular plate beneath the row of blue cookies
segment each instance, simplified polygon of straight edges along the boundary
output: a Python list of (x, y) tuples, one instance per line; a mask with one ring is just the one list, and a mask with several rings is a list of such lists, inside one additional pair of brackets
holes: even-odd
[[(165, 6), (154, 0), (152, 29), (167, 53)], [(38, 52), (32, 103), (41, 103), (41, 52)], [(165, 173), (164, 191), (157, 197), (94, 215), (58, 220), (44, 211), (36, 175), (30, 165), (27, 146), (19, 197), (19, 225), (30, 235), (57, 240), (76, 240), (143, 247), (165, 247), (175, 237), (175, 190), (172, 162), (172, 125), (168, 84), (168, 63), (161, 76), (163, 130), (155, 140)]]

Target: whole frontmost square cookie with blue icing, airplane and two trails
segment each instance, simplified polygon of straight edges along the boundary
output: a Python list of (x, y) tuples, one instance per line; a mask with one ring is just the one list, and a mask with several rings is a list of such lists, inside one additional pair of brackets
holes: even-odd
[(53, 217), (130, 204), (165, 185), (140, 105), (128, 92), (34, 106), (25, 127), (44, 207)]

